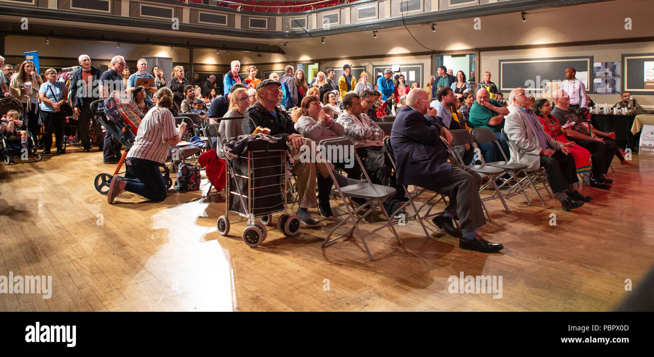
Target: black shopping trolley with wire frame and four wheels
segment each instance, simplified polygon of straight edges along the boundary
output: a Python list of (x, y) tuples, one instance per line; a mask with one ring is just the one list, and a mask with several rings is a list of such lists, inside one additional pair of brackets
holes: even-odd
[[(222, 140), (218, 138), (218, 145), (221, 145)], [(300, 232), (300, 219), (286, 213), (286, 141), (271, 142), (273, 140), (257, 136), (239, 138), (248, 140), (247, 147), (237, 157), (227, 160), (226, 208), (225, 215), (218, 217), (218, 233), (226, 236), (230, 232), (229, 213), (237, 213), (245, 217), (239, 222), (248, 221), (243, 241), (250, 247), (257, 247), (266, 240), (266, 226), (274, 225), (272, 213), (283, 211), (277, 229), (286, 236), (295, 236)], [(260, 222), (255, 222), (256, 218), (260, 218)]]

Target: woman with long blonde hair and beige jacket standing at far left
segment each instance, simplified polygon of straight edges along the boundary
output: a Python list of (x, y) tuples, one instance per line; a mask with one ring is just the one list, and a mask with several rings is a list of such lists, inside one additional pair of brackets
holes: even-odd
[(43, 79), (37, 74), (32, 61), (21, 63), (18, 72), (9, 81), (9, 92), (23, 104), (23, 111), (27, 115), (27, 130), (35, 141), (41, 133), (37, 114), (41, 84)]

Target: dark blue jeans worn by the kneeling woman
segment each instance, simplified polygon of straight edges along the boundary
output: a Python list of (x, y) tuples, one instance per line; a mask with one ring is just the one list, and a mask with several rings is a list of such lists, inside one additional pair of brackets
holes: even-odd
[(129, 174), (135, 179), (126, 178), (125, 191), (161, 202), (168, 196), (168, 189), (163, 181), (159, 163), (145, 159), (130, 157), (125, 161)]

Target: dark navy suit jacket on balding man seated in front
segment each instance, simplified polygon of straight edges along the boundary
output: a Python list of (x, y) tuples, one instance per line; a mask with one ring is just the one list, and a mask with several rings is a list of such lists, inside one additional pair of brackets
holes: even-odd
[(400, 109), (390, 132), (390, 144), (400, 185), (430, 187), (434, 181), (449, 179), (452, 166), (447, 146), (439, 138), (441, 119), (429, 117), (410, 106)]

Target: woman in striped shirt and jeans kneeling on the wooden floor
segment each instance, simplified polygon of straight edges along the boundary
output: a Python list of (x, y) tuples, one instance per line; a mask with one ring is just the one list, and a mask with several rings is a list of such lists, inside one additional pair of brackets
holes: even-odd
[(168, 149), (182, 140), (186, 123), (175, 129), (175, 118), (170, 112), (173, 92), (163, 87), (154, 93), (154, 108), (146, 114), (139, 125), (134, 145), (129, 150), (125, 164), (135, 179), (114, 175), (109, 185), (107, 202), (123, 191), (128, 191), (160, 202), (165, 200), (168, 189), (159, 167), (166, 159)]

